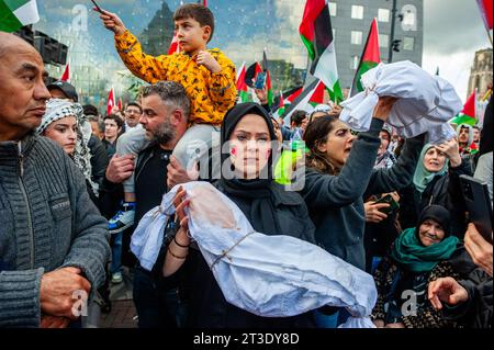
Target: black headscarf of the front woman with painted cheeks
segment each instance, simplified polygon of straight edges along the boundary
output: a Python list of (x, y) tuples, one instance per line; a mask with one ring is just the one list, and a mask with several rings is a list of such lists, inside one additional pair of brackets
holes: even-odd
[[(266, 110), (257, 103), (239, 103), (226, 113), (222, 124), (222, 150), (238, 122), (247, 114), (261, 116), (268, 125), (271, 140), (276, 140), (274, 128)], [(222, 153), (222, 165), (229, 161), (229, 154)], [(229, 162), (228, 162), (229, 163)], [(268, 159), (268, 179), (225, 179), (222, 171), (220, 185), (247, 216), (252, 227), (262, 234), (281, 234), (274, 210), (274, 182), (272, 180), (272, 153)]]

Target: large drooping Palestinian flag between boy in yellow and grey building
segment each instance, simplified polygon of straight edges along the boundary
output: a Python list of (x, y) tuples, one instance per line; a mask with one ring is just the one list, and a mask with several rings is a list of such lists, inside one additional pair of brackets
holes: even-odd
[(299, 32), (312, 60), (311, 75), (318, 78), (328, 89), (330, 99), (339, 103), (344, 98), (327, 0), (306, 1)]

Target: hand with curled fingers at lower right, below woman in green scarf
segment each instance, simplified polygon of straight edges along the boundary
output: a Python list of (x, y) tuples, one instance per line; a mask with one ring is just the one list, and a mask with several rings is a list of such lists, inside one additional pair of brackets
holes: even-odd
[(441, 302), (457, 305), (469, 300), (469, 293), (452, 278), (437, 279), (429, 283), (428, 298), (433, 307), (441, 309)]

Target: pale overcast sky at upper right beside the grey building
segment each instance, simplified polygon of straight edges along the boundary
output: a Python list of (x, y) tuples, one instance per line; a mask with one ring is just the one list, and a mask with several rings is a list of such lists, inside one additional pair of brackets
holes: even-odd
[(487, 47), (492, 45), (475, 0), (424, 0), (423, 68), (435, 72), (439, 67), (463, 102), (475, 52)]

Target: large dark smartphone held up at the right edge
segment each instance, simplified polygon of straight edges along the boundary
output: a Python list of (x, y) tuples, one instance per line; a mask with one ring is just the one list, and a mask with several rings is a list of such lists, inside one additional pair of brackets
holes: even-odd
[(492, 204), (487, 184), (469, 176), (460, 176), (460, 182), (470, 221), (482, 237), (492, 244)]

